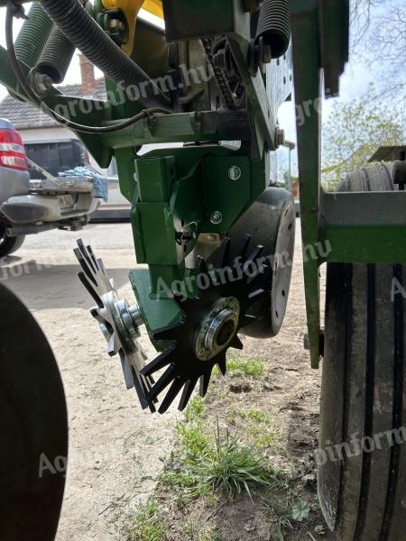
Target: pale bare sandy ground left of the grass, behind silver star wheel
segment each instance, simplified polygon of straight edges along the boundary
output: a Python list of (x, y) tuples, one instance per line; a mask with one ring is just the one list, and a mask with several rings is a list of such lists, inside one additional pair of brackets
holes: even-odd
[[(103, 258), (119, 293), (133, 300), (131, 226), (90, 225), (79, 235)], [(27, 237), (19, 252), (2, 261), (0, 280), (40, 322), (65, 386), (69, 470), (57, 541), (108, 541), (115, 538), (108, 521), (115, 506), (152, 491), (160, 459), (171, 448), (176, 413), (143, 413), (134, 391), (125, 389), (120, 362), (107, 356), (88, 313), (94, 302), (78, 280), (72, 252), (77, 238), (62, 231)], [(144, 346), (153, 354), (148, 341)]]

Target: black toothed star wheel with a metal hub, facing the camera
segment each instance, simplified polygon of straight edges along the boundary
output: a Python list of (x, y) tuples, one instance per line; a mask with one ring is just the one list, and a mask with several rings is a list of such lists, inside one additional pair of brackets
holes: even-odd
[(161, 401), (160, 413), (180, 392), (179, 409), (186, 408), (198, 382), (200, 396), (204, 397), (214, 367), (217, 365), (226, 374), (228, 348), (243, 349), (237, 334), (254, 323), (255, 317), (246, 313), (259, 298), (269, 295), (271, 282), (271, 270), (261, 258), (263, 246), (255, 246), (247, 255), (250, 240), (250, 235), (245, 235), (230, 256), (230, 239), (226, 238), (218, 250), (215, 267), (208, 267), (204, 259), (198, 258), (197, 295), (185, 298), (173, 293), (183, 312), (180, 323), (152, 333), (154, 340), (171, 343), (142, 371), (145, 377), (152, 377), (156, 371), (166, 369), (147, 395), (152, 402), (170, 386)]

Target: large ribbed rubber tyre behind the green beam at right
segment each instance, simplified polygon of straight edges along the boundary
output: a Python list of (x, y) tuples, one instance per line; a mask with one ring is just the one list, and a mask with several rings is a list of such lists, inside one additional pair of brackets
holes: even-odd
[[(339, 191), (387, 191), (395, 163)], [(329, 264), (318, 492), (337, 541), (406, 540), (406, 266)]]

